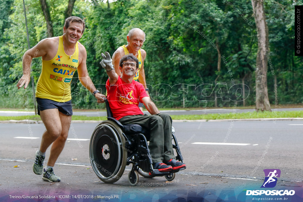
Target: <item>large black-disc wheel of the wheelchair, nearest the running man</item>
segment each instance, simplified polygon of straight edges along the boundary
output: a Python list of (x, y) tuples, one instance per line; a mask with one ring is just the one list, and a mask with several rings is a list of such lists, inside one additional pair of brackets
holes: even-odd
[(89, 157), (98, 178), (105, 183), (118, 181), (126, 166), (127, 151), (121, 128), (113, 121), (102, 121), (95, 128)]

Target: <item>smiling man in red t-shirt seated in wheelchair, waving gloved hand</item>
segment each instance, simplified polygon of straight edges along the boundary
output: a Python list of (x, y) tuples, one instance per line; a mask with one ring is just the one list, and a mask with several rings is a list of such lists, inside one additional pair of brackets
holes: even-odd
[[(176, 161), (171, 144), (171, 117), (168, 114), (160, 114), (155, 103), (151, 101), (145, 92), (143, 85), (134, 81), (134, 75), (138, 71), (138, 59), (130, 54), (124, 55), (119, 63), (121, 77), (112, 71), (112, 59), (108, 52), (102, 53), (100, 62), (108, 75), (106, 82), (107, 99), (112, 110), (113, 117), (122, 124), (139, 124), (150, 129), (149, 149), (153, 167), (165, 172), (172, 169), (185, 167), (185, 163)], [(148, 116), (139, 109), (139, 101), (147, 111)]]

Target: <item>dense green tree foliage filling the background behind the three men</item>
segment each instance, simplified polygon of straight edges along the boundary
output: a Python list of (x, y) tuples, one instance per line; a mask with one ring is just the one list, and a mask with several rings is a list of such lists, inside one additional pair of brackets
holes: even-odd
[[(23, 108), (26, 101), (32, 107), (31, 85), (27, 91), (16, 88), (22, 76), (22, 55), (27, 50), (23, 2), (0, 2), (0, 107)], [(62, 35), (68, 1), (47, 2), (54, 35)], [(271, 104), (274, 104), (274, 84), (278, 85), (279, 104), (301, 103), (303, 97), (303, 60), (294, 53), (294, 8), (300, 4), (301, 1), (289, 0), (268, 0), (264, 4), (269, 29), (268, 50), (274, 65), (274, 72), (268, 70)], [(47, 27), (39, 1), (25, 0), (25, 7), (32, 47), (45, 38)], [(127, 43), (128, 31), (138, 27), (146, 33), (142, 47), (147, 52), (146, 82), (159, 107), (204, 108), (205, 104), (199, 102), (203, 100), (210, 101), (208, 106), (214, 106), (215, 93), (223, 97), (217, 98), (218, 106), (231, 106), (233, 102), (229, 99), (242, 99), (243, 93), (241, 95), (238, 89), (242, 83), (247, 85), (245, 104), (255, 104), (258, 38), (249, 0), (117, 0), (109, 3), (109, 7), (101, 0), (76, 1), (72, 14), (86, 21), (80, 42), (86, 47), (88, 72), (98, 88), (105, 90), (107, 80), (99, 65), (101, 53), (108, 51), (112, 55)], [(218, 54), (221, 56), (219, 68)], [(35, 83), (40, 72), (41, 58), (36, 58), (32, 65)], [(99, 106), (81, 86), (77, 74), (72, 82), (74, 108)], [(205, 88), (208, 89), (202, 92)]]

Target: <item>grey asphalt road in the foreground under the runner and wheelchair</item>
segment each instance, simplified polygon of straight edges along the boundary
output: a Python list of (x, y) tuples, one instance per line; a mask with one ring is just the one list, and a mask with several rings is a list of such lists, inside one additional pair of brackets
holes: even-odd
[[(122, 180), (114, 184), (101, 182), (92, 171), (88, 139), (96, 125), (72, 123), (76, 133), (70, 131), (71, 139), (55, 165), (55, 173), (62, 181), (51, 184), (32, 172), (44, 125), (0, 124), (0, 201), (32, 201), (12, 198), (20, 194), (58, 197), (57, 201), (94, 201), (77, 198), (84, 195), (118, 195), (118, 199), (110, 201), (182, 201), (182, 198), (183, 201), (253, 201), (253, 196), (246, 196), (242, 190), (260, 189), (265, 177), (263, 169), (280, 169), (281, 176), (274, 189), (296, 190), (287, 201), (302, 201), (301, 121), (173, 123), (187, 169), (177, 173), (173, 183), (167, 183), (164, 177), (140, 177), (141, 184), (136, 187), (130, 186), (127, 180), (130, 166), (126, 167)], [(75, 135), (82, 140), (78, 143), (72, 140)], [(218, 144), (224, 140), (231, 145)], [(49, 149), (46, 161), (48, 152)], [(255, 167), (258, 169), (254, 171)], [(59, 199), (62, 196), (69, 198)]]

